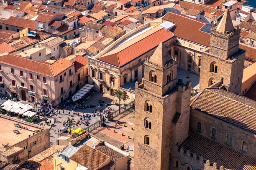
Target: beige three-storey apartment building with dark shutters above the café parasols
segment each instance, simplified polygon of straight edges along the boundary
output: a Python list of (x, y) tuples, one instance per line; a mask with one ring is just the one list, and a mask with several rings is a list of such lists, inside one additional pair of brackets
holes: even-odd
[(49, 63), (5, 53), (0, 57), (0, 92), (20, 100), (58, 104), (72, 96), (79, 81), (74, 72), (74, 63), (62, 57)]

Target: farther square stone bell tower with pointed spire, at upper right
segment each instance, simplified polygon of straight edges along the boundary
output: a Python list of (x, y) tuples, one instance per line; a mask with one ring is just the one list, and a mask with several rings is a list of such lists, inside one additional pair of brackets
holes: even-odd
[(200, 91), (221, 82), (229, 92), (240, 94), (245, 51), (239, 49), (240, 29), (234, 28), (228, 9), (211, 29), (210, 47), (202, 52)]

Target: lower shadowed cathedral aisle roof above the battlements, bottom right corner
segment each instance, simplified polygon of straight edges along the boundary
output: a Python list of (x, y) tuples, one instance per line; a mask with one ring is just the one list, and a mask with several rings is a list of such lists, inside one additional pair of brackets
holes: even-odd
[(191, 153), (196, 153), (228, 170), (256, 170), (255, 159), (197, 133), (192, 133), (181, 148), (190, 150)]

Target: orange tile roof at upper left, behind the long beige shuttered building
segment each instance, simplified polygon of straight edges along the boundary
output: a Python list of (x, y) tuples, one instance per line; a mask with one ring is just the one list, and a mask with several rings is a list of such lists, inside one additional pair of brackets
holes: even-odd
[(30, 27), (31, 30), (36, 30), (36, 22), (34, 20), (27, 20), (27, 19), (19, 18), (19, 17), (11, 16), (10, 18), (8, 18), (8, 20), (5, 21), (5, 24), (13, 25), (16, 27), (21, 27), (21, 28)]

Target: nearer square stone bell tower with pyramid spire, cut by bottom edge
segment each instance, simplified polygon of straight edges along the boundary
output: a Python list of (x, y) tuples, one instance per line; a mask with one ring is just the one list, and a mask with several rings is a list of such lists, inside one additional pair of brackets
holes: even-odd
[(172, 150), (188, 136), (191, 83), (177, 85), (177, 60), (163, 42), (144, 64), (135, 86), (134, 169), (168, 170)]

